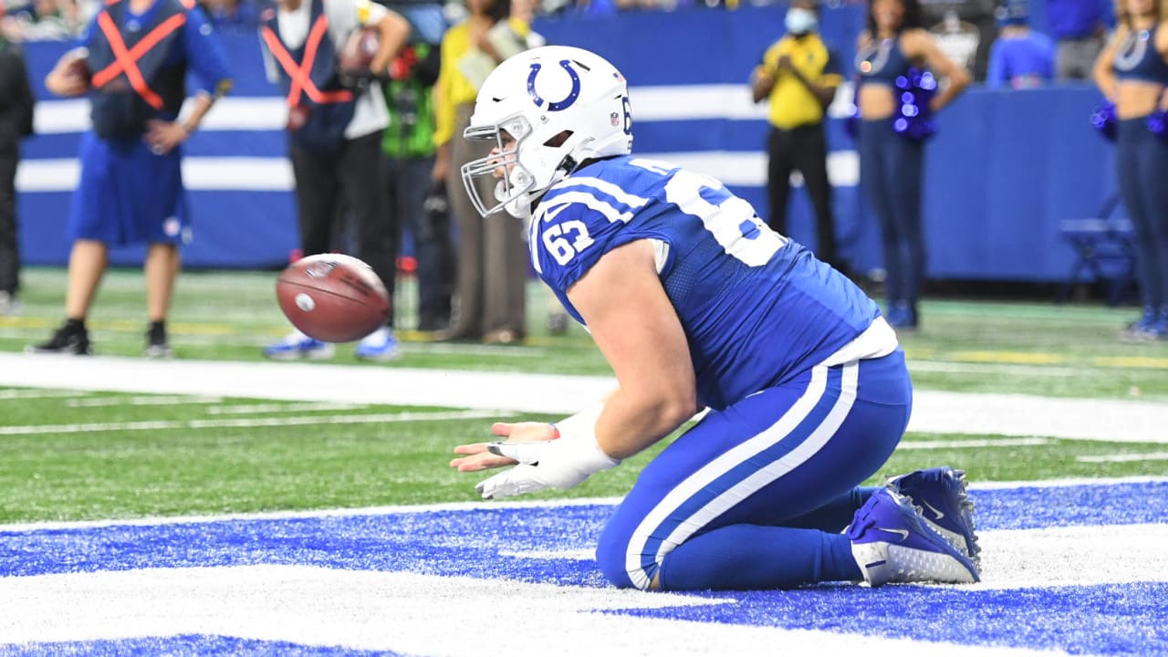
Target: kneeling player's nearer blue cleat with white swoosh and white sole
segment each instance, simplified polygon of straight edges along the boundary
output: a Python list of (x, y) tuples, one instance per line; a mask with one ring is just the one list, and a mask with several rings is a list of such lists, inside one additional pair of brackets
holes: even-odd
[(912, 502), (889, 489), (856, 511), (847, 535), (851, 555), (872, 587), (887, 583), (972, 583), (978, 566), (930, 527)]

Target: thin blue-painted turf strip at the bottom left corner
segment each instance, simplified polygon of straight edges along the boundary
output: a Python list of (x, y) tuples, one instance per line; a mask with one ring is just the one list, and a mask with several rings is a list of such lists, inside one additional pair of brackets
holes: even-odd
[(227, 636), (183, 635), (125, 638), (119, 641), (75, 641), (36, 645), (0, 645), (0, 657), (71, 657), (82, 655), (248, 655), (250, 657), (406, 657), (399, 652), (350, 650), (336, 646), (300, 645), (286, 641), (256, 641)]

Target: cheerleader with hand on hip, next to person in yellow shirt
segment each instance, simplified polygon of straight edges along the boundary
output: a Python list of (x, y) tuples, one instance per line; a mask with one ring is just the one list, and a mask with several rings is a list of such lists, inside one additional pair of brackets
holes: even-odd
[[(969, 84), (969, 74), (941, 53), (922, 25), (917, 0), (872, 0), (855, 62), (862, 117), (860, 185), (881, 223), (888, 320), (906, 330), (917, 327), (917, 299), (925, 278), (920, 184), (927, 131), (920, 130), (920, 122)], [(919, 67), (947, 78), (947, 84), (913, 116), (905, 116), (903, 91)]]

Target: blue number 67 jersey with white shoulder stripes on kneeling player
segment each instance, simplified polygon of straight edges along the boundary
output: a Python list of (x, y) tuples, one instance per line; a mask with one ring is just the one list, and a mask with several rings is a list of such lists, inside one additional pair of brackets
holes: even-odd
[(632, 155), (592, 162), (544, 194), (531, 220), (531, 262), (583, 323), (568, 289), (637, 240), (659, 244), (661, 284), (686, 331), (698, 401), (710, 408), (822, 362), (880, 314), (851, 281), (771, 230), (722, 182)]

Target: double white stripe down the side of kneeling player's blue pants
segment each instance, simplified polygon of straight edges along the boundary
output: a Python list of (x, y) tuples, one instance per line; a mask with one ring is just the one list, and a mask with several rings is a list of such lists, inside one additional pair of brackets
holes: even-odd
[[(718, 456), (710, 463), (707, 463), (669, 491), (669, 493), (666, 495), (665, 498), (645, 516), (645, 519), (641, 520), (640, 525), (638, 525), (633, 531), (628, 541), (627, 552), (625, 553), (625, 569), (637, 588), (645, 589), (649, 586), (649, 575), (645, 572), (645, 568), (641, 565), (641, 554), (645, 552), (646, 545), (653, 533), (661, 526), (666, 518), (676, 512), (676, 510), (693, 496), (709, 486), (711, 482), (729, 472), (738, 464), (745, 462), (748, 458), (751, 458), (763, 451), (771, 444), (783, 440), (787, 434), (794, 430), (795, 427), (802, 423), (802, 421), (806, 420), (807, 416), (815, 409), (815, 406), (823, 396), (826, 389), (827, 367), (814, 367), (812, 369), (811, 382), (807, 385), (807, 389), (804, 390), (802, 396), (795, 400), (795, 402), (783, 415), (783, 417), (779, 419), (778, 422), (755, 437), (749, 438), (734, 449), (728, 450), (725, 454)], [(854, 388), (853, 392), (855, 392)], [(742, 498), (736, 498), (736, 500), (741, 499)], [(693, 535), (693, 532), (701, 528), (701, 525), (695, 525), (693, 523), (684, 523), (683, 525), (687, 527), (687, 530), (684, 530), (686, 535), (680, 535), (679, 531), (675, 530), (668, 539), (662, 541), (656, 553), (655, 561), (658, 563), (661, 562), (665, 554), (668, 554), (669, 551), (674, 549), (677, 545), (688, 539), (689, 535)]]

